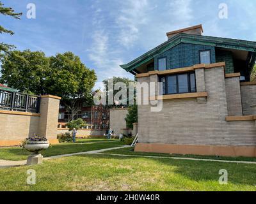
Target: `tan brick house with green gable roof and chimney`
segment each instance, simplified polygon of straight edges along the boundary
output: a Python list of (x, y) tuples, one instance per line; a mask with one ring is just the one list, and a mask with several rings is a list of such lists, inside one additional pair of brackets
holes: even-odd
[(163, 96), (160, 112), (138, 106), (135, 150), (256, 157), (256, 42), (202, 33), (202, 25), (169, 32), (163, 44), (121, 65), (138, 82), (163, 83), (150, 98)]

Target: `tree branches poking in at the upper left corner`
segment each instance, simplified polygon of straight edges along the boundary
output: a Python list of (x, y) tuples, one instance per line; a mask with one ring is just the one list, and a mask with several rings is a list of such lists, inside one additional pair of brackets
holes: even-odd
[[(4, 4), (1, 3), (1, 1), (0, 1), (0, 13), (2, 15), (8, 15), (16, 19), (20, 19), (20, 16), (22, 15), (22, 13), (15, 13), (15, 11), (12, 8), (4, 7)], [(14, 34), (13, 31), (5, 29), (2, 25), (0, 25), (0, 33), (7, 33), (10, 35)], [(8, 45), (6, 43), (0, 42), (0, 52), (1, 51), (8, 52), (8, 50), (12, 48), (14, 48), (13, 45)]]

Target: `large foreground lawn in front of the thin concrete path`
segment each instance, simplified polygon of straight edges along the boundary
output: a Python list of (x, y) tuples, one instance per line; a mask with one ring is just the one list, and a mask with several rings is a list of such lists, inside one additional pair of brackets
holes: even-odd
[[(27, 170), (36, 184), (26, 184)], [(219, 171), (228, 171), (220, 185)], [(256, 191), (256, 165), (81, 155), (0, 169), (0, 191)]]

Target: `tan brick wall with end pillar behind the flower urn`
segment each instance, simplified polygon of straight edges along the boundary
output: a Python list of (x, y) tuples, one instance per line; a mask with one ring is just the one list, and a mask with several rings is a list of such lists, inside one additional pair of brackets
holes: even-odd
[(40, 113), (0, 110), (0, 147), (17, 146), (33, 133), (58, 143), (57, 124), (60, 98), (42, 96)]

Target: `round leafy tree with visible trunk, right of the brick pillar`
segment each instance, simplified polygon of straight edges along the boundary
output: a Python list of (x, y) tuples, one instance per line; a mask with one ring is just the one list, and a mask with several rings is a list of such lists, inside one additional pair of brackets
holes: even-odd
[(86, 68), (80, 58), (72, 52), (57, 54), (49, 58), (50, 73), (46, 78), (47, 90), (61, 96), (71, 114), (71, 120), (78, 111), (77, 103), (92, 101), (92, 89), (97, 80), (95, 71)]

